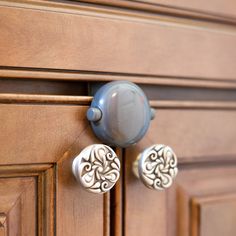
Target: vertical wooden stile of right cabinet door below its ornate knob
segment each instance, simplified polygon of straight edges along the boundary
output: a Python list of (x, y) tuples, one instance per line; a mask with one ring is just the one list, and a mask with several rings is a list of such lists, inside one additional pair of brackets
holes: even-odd
[(169, 223), (165, 208), (166, 192), (148, 189), (133, 175), (132, 163), (135, 159), (136, 155), (129, 151), (125, 153), (125, 235), (166, 236)]

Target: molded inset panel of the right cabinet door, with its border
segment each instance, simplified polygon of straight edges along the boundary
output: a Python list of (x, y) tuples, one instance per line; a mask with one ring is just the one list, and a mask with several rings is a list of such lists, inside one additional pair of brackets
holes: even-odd
[(170, 235), (175, 231), (178, 236), (236, 235), (230, 220), (236, 217), (236, 166), (192, 167), (180, 169), (169, 190), (168, 209), (176, 211), (176, 215), (169, 213), (169, 220), (176, 222)]

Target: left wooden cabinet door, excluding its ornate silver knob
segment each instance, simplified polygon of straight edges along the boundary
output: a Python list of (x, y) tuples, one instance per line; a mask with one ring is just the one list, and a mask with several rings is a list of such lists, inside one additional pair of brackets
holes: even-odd
[(73, 158), (97, 142), (77, 99), (0, 104), (0, 235), (108, 233), (109, 195), (85, 192), (72, 176)]

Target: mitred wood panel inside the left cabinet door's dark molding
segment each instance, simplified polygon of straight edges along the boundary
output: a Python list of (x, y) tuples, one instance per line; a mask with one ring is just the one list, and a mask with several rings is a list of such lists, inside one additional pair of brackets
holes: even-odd
[(0, 179), (0, 212), (7, 221), (5, 235), (35, 235), (36, 211), (35, 178)]

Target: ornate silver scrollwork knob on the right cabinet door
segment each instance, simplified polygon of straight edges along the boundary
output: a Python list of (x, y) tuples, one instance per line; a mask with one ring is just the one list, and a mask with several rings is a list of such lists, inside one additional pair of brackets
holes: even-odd
[(150, 189), (169, 188), (178, 173), (177, 157), (170, 147), (153, 145), (137, 157), (133, 172)]

